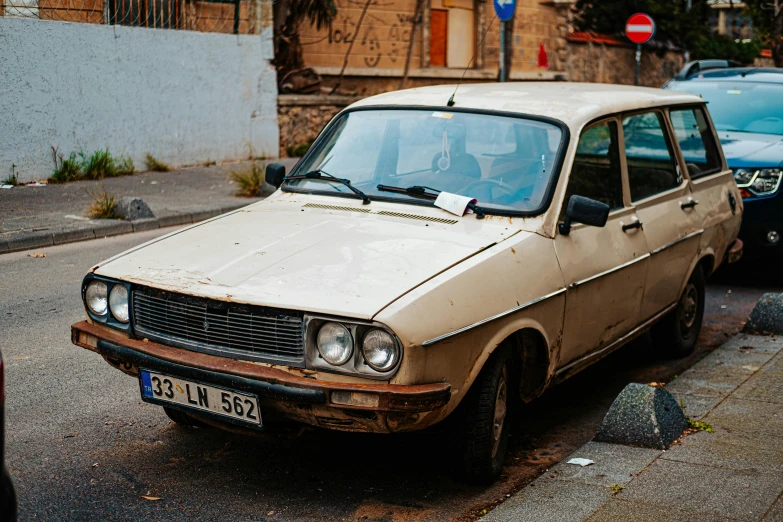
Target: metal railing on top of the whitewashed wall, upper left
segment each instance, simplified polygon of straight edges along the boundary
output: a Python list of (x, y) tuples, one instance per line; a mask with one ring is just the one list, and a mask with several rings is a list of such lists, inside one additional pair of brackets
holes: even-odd
[(270, 0), (0, 0), (0, 17), (259, 34)]

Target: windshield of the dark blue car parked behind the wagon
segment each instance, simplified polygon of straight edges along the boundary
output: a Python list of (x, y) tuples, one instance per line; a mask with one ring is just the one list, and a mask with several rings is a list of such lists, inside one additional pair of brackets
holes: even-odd
[(783, 85), (752, 82), (676, 82), (671, 89), (698, 94), (718, 130), (783, 135)]

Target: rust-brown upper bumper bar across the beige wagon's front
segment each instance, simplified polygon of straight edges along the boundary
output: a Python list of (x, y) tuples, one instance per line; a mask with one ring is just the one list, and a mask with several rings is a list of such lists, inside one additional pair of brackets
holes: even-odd
[[(97, 346), (87, 344), (82, 339), (82, 334), (97, 338)], [(137, 366), (161, 369), (163, 372), (169, 371), (183, 377), (186, 377), (183, 371), (205, 372), (198, 375), (207, 375), (207, 377), (198, 377), (198, 379), (226, 383), (227, 387), (236, 388), (237, 383), (241, 382), (251, 383), (254, 386), (263, 385), (266, 390), (263, 396), (278, 400), (325, 403), (333, 391), (365, 392), (379, 396), (377, 407), (328, 405), (338, 409), (418, 413), (441, 408), (451, 398), (451, 385), (444, 382), (408, 386), (320, 381), (258, 363), (192, 352), (152, 341), (129, 339), (127, 334), (114, 332), (87, 321), (71, 326), (71, 339), (77, 346)], [(150, 362), (135, 362), (139, 360), (150, 360)], [(159, 366), (154, 366), (153, 363), (157, 363)], [(166, 368), (174, 369), (167, 370)], [(216, 381), (212, 376), (226, 380)], [(262, 394), (261, 391), (257, 393)], [(302, 399), (284, 398), (294, 396), (302, 397)], [(310, 397), (310, 400), (308, 401), (306, 397)], [(316, 400), (315, 397), (320, 398)]]

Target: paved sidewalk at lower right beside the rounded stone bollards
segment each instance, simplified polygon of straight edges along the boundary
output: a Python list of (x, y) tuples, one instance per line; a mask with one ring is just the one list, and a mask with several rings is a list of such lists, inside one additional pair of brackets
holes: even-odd
[(665, 451), (588, 442), (482, 520), (783, 521), (782, 349), (740, 334), (667, 384), (714, 433)]

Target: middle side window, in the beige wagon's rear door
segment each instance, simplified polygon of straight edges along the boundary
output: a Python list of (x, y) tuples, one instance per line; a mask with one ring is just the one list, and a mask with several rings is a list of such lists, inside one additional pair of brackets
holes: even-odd
[(682, 183), (665, 128), (663, 115), (659, 112), (634, 114), (623, 119), (632, 201), (665, 192)]

